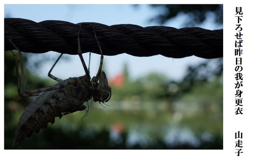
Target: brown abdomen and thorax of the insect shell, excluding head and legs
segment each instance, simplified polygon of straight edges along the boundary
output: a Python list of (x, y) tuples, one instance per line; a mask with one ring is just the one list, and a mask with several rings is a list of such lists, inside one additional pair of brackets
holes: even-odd
[(53, 124), (55, 117), (84, 110), (84, 102), (93, 94), (92, 83), (86, 75), (63, 80), (55, 86), (60, 88), (41, 92), (25, 109), (17, 125), (14, 146), (20, 145), (33, 132), (47, 128), (49, 122)]

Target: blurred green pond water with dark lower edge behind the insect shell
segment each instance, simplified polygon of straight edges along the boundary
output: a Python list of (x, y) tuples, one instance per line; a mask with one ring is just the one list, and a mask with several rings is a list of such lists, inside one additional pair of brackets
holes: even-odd
[[(223, 149), (221, 110), (195, 111), (191, 108), (192, 111), (182, 112), (147, 109), (153, 105), (164, 108), (168, 105), (164, 102), (137, 103), (137, 106), (123, 102), (108, 104), (110, 106), (106, 108), (98, 103), (89, 104), (85, 117), (86, 111), (81, 111), (66, 115), (61, 120), (56, 118), (54, 125), (49, 124), (47, 129), (26, 138), (20, 149), (38, 149), (38, 144), (47, 145), (49, 142), (39, 149)], [(125, 104), (134, 109), (113, 110), (115, 105)], [(137, 109), (138, 105), (144, 109)], [(68, 142), (69, 139), (72, 141)], [(74, 141), (81, 144), (76, 145)]]

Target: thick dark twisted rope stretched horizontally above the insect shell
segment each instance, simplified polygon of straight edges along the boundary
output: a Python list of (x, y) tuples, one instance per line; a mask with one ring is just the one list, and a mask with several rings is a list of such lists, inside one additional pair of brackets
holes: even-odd
[(223, 29), (211, 31), (198, 27), (175, 29), (166, 26), (143, 28), (132, 24), (107, 26), (59, 20), (36, 23), (22, 18), (4, 19), (4, 49), (15, 49), (9, 41), (12, 40), (21, 52), (77, 54), (80, 24), (83, 53), (100, 54), (94, 29), (104, 55), (127, 53), (138, 57), (157, 54), (174, 58), (191, 55), (207, 59), (223, 57)]

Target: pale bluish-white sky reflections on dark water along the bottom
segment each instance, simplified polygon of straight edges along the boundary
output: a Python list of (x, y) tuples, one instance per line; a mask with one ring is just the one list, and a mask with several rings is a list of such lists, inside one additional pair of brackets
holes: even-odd
[[(141, 127), (137, 126), (129, 131), (125, 142), (127, 148), (132, 149), (134, 146), (140, 146), (141, 149), (147, 149), (150, 144), (155, 144), (157, 142), (156, 137), (150, 137), (148, 135), (150, 131), (147, 130), (150, 130), (147, 126), (145, 126), (143, 130)], [(194, 133), (191, 129), (178, 126), (178, 124), (172, 127), (164, 127), (162, 133), (164, 133), (163, 137), (159, 139), (169, 148), (182, 145), (198, 148), (202, 143), (211, 143), (215, 140), (214, 136), (209, 132)], [(111, 128), (109, 138), (115, 144), (121, 144), (124, 141), (121, 134), (122, 131)], [(157, 134), (160, 135), (160, 133)]]

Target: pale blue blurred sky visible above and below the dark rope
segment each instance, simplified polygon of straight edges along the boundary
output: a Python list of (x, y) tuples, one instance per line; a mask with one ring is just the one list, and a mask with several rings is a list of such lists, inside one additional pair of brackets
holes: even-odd
[[(20, 17), (24, 19), (40, 22), (44, 20), (64, 20), (71, 23), (96, 22), (108, 26), (114, 24), (135, 24), (139, 26), (158, 26), (156, 22), (148, 20), (158, 13), (163, 12), (148, 5), (5, 5), (4, 17)], [(186, 21), (184, 15), (168, 21), (164, 26), (183, 28)], [(222, 29), (222, 25), (213, 23), (212, 18), (198, 25), (205, 29)], [(104, 54), (104, 52), (103, 52)], [(48, 52), (36, 54), (35, 56), (59, 56), (59, 53)], [(68, 77), (78, 77), (84, 75), (81, 61), (78, 55), (65, 55), (69, 60), (59, 61), (52, 71), (52, 74), (61, 79)], [(89, 53), (83, 54), (88, 65)], [(32, 57), (32, 56), (31, 56)], [(33, 56), (34, 57), (34, 56)], [(35, 59), (35, 58), (34, 58)], [(94, 76), (99, 67), (100, 56), (92, 54), (90, 63), (90, 74)], [(108, 79), (116, 74), (122, 73), (124, 63), (128, 64), (128, 71), (131, 78), (140, 78), (150, 72), (160, 72), (169, 79), (180, 80), (186, 72), (186, 66), (198, 64), (205, 59), (199, 57), (185, 57), (174, 59), (162, 55), (152, 57), (134, 57), (128, 54), (116, 56), (104, 56), (104, 70)], [(42, 62), (44, 63), (44, 62)], [(53, 62), (44, 63), (36, 74), (47, 77)]]

